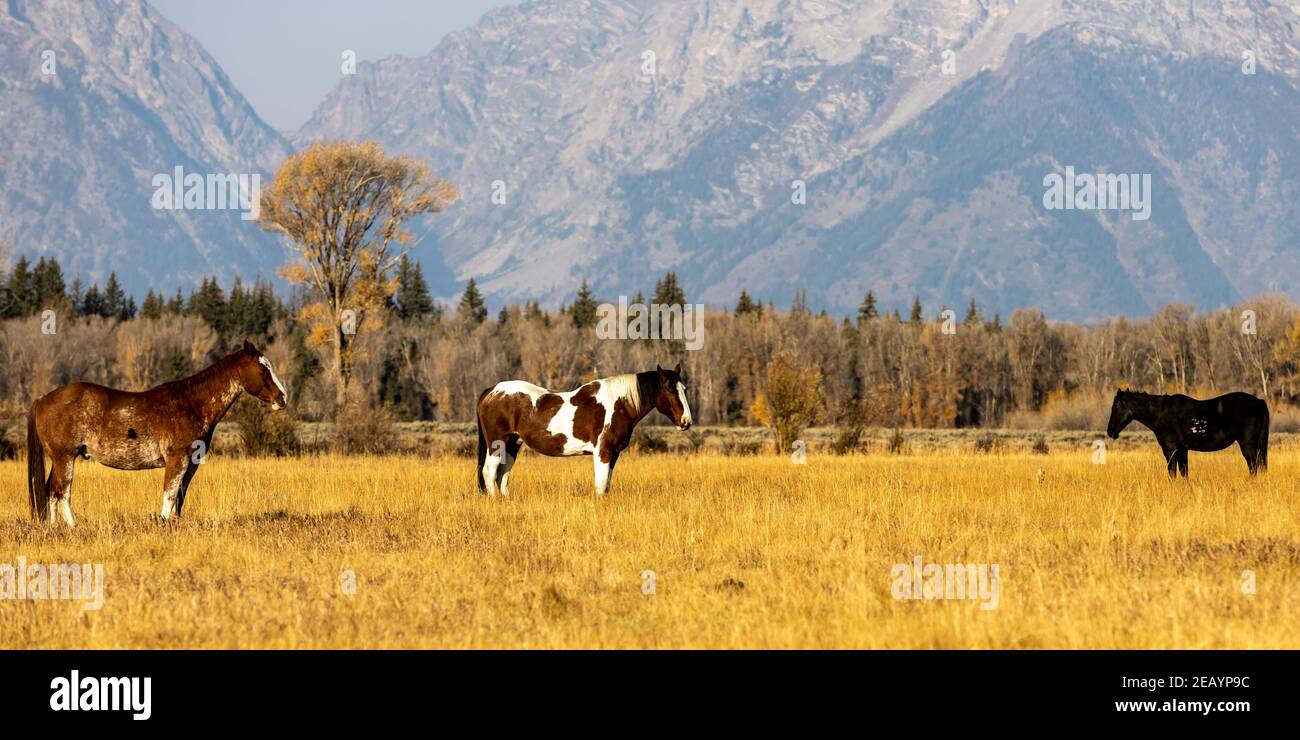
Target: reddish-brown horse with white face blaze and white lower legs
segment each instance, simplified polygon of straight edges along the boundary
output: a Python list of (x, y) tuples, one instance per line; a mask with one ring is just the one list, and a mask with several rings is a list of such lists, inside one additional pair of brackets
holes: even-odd
[[(27, 493), (31, 515), (55, 522), (55, 506), (73, 520), (77, 458), (122, 471), (165, 468), (162, 519), (181, 515), (185, 493), (212, 445), (212, 432), (246, 391), (272, 408), (287, 403), (270, 360), (247, 339), (212, 367), (140, 393), (90, 382), (51, 390), (27, 414)], [(46, 477), (49, 458), (49, 477)]]

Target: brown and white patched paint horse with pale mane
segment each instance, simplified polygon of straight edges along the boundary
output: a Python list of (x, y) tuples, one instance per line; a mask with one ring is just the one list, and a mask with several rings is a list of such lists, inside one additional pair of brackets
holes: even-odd
[(510, 494), (510, 471), (524, 443), (543, 455), (592, 455), (595, 493), (610, 492), (619, 454), (632, 429), (659, 410), (679, 429), (690, 428), (681, 365), (602, 377), (568, 393), (510, 380), (478, 397), (478, 490)]

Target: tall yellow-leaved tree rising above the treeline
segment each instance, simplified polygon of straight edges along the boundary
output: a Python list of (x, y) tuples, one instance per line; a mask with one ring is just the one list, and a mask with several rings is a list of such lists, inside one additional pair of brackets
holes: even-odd
[(374, 142), (320, 142), (285, 160), (261, 194), (263, 229), (285, 235), (299, 260), (283, 276), (309, 286), (317, 303), (302, 319), (333, 346), (335, 407), (347, 401), (351, 346), (395, 285), (389, 273), (411, 233), (403, 225), (459, 198), (411, 157), (385, 155)]

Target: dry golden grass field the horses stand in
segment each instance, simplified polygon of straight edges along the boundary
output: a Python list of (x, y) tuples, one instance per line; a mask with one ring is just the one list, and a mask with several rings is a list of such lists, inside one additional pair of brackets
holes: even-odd
[[(172, 524), (160, 472), (82, 463), (75, 532), (0, 463), (0, 562), (107, 577), (99, 611), (0, 601), (0, 648), (1296, 648), (1300, 451), (1271, 463), (628, 455), (597, 499), (588, 459), (525, 453), (488, 499), (463, 458), (216, 456)], [(998, 563), (998, 609), (896, 601), (915, 555)]]

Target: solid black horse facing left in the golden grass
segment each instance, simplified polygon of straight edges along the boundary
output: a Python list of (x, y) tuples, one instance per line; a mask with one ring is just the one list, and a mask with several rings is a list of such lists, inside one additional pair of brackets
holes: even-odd
[(1236, 442), (1253, 476), (1269, 467), (1269, 404), (1249, 393), (1209, 401), (1187, 395), (1115, 391), (1106, 433), (1114, 440), (1131, 421), (1156, 433), (1169, 462), (1169, 477), (1187, 477), (1187, 451), (1214, 453)]

